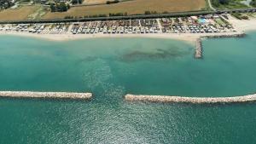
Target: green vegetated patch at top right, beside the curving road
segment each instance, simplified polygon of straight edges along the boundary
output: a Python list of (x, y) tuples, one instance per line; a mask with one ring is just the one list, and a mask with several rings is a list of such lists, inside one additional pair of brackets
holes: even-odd
[(212, 6), (216, 9), (244, 9), (248, 8), (247, 5), (241, 3), (243, 0), (230, 0), (229, 3), (219, 3), (220, 0), (211, 0)]

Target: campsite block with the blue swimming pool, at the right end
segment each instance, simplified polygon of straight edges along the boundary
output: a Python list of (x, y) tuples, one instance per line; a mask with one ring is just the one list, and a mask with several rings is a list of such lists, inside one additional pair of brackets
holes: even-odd
[(162, 32), (164, 33), (234, 32), (234, 28), (222, 16), (223, 15), (207, 15), (164, 18), (161, 19), (160, 22)]

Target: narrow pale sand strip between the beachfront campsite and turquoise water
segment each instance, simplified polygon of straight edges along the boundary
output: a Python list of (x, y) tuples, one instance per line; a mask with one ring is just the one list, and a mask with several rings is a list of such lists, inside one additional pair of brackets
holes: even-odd
[[(255, 28), (256, 30), (256, 28)], [(253, 31), (253, 30), (250, 30)], [(201, 37), (222, 37), (240, 35), (244, 32), (222, 32), (222, 33), (154, 33), (154, 34), (34, 34), (34, 33), (21, 33), (21, 32), (0, 32), (0, 36), (17, 36), (17, 37), (33, 37), (55, 42), (83, 40), (90, 38), (163, 38), (175, 39), (184, 42), (194, 43)]]

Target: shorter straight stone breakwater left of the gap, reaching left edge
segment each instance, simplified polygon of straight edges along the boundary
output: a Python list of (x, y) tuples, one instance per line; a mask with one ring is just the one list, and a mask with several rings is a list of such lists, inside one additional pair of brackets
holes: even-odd
[(86, 100), (90, 99), (92, 94), (73, 92), (0, 91), (0, 97)]

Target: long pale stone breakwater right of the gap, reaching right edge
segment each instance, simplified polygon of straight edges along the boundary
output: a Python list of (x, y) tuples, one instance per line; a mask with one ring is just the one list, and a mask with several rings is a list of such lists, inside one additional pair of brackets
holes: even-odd
[(192, 104), (214, 104), (214, 103), (242, 103), (256, 101), (256, 94), (234, 96), (234, 97), (183, 97), (165, 95), (125, 95), (126, 101), (149, 101), (166, 103), (192, 103)]

